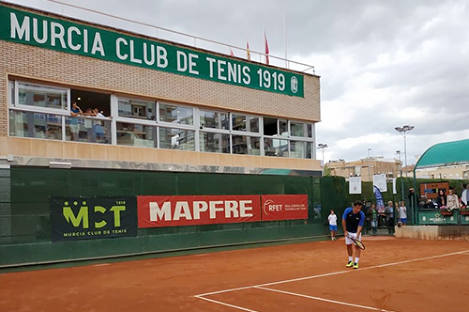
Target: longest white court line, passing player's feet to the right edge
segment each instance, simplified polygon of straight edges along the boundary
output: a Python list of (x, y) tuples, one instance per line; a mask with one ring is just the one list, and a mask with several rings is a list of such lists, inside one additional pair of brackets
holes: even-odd
[[(443, 254), (443, 255), (437, 255), (437, 256), (430, 256), (430, 257), (417, 258), (417, 259), (412, 259), (412, 260), (404, 260), (404, 261), (397, 261), (397, 262), (391, 262), (391, 263), (373, 265), (373, 266), (368, 266), (368, 267), (360, 268), (360, 269), (358, 269), (358, 270), (349, 269), (349, 270), (338, 271), (338, 272), (332, 272), (332, 273), (326, 273), (326, 274), (320, 274), (320, 275), (312, 275), (312, 276), (306, 276), (306, 277), (300, 277), (300, 278), (287, 279), (287, 280), (278, 281), (278, 282), (272, 282), (272, 283), (265, 283), (265, 284), (258, 284), (258, 285), (251, 285), (251, 286), (245, 286), (245, 287), (238, 287), (238, 288), (220, 290), (220, 291), (215, 291), (215, 292), (211, 292), (211, 293), (196, 295), (196, 296), (194, 296), (194, 297), (200, 298), (200, 297), (202, 297), (202, 296), (210, 296), (210, 295), (222, 294), (222, 293), (227, 293), (227, 292), (232, 292), (232, 291), (237, 291), (237, 290), (243, 290), (243, 289), (249, 289), (249, 288), (259, 287), (259, 286), (269, 286), (269, 285), (276, 285), (276, 284), (297, 282), (297, 281), (308, 280), (308, 279), (319, 278), (319, 277), (325, 277), (325, 276), (331, 276), (331, 275), (345, 274), (345, 273), (351, 273), (351, 272), (359, 272), (359, 271), (362, 271), (362, 270), (369, 270), (369, 269), (374, 269), (374, 268), (378, 268), (378, 267), (386, 267), (386, 266), (392, 266), (392, 265), (410, 263), (410, 262), (415, 262), (415, 261), (436, 259), (436, 258), (442, 258), (442, 257), (448, 257), (448, 256), (454, 256), (454, 255), (461, 255), (461, 254), (465, 254), (465, 253), (467, 253), (467, 252), (469, 252), (469, 250), (465, 250), (465, 251), (461, 251), (461, 252), (455, 252), (455, 253), (449, 253), (449, 254)], [(202, 298), (200, 298), (200, 299), (202, 299)]]

